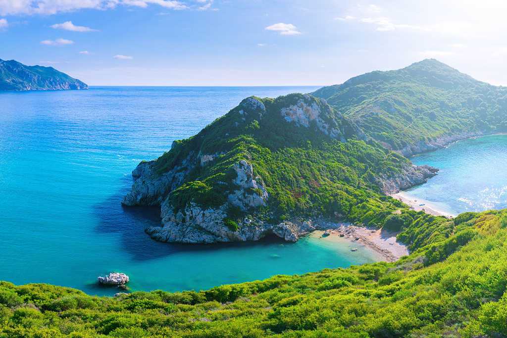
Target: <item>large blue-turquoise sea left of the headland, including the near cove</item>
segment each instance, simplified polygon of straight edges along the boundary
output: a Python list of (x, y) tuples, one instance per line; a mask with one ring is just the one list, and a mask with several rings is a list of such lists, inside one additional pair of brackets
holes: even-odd
[(309, 237), (212, 246), (151, 240), (158, 210), (123, 209), (131, 171), (157, 158), (250, 95), (315, 87), (95, 87), (0, 93), (0, 280), (46, 282), (92, 294), (111, 271), (134, 290), (206, 289), (224, 283), (347, 267), (375, 259)]

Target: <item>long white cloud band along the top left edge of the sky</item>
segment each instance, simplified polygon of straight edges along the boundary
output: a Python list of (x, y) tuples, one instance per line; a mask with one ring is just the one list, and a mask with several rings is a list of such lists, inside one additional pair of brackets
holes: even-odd
[(120, 5), (144, 8), (150, 4), (173, 10), (189, 8), (178, 0), (0, 0), (0, 15), (48, 15), (81, 9), (106, 10)]

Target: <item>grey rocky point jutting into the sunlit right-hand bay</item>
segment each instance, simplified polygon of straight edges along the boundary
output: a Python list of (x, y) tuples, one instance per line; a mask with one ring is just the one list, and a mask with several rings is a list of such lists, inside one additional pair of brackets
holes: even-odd
[(416, 166), (407, 164), (394, 176), (377, 177), (377, 183), (384, 194), (395, 194), (412, 186), (426, 183), (428, 178), (437, 175), (439, 169), (428, 165)]

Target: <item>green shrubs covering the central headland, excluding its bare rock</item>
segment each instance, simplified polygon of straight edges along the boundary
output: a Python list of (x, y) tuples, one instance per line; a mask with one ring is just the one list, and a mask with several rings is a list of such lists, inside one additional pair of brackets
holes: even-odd
[[(232, 184), (236, 177), (232, 167), (243, 159), (253, 165), (254, 175), (266, 187), (269, 198), (267, 206), (260, 209), (231, 207), (228, 224), (250, 212), (272, 222), (295, 216), (338, 215), (381, 227), (386, 216), (405, 207), (384, 196), (376, 179), (410, 166), (406, 158), (375, 141), (358, 139), (353, 124), (313, 97), (291, 94), (256, 100), (265, 105), (265, 111), (240, 104), (199, 134), (176, 142), (157, 160), (158, 171), (164, 173), (190, 154), (216, 155), (209, 164), (196, 166), (185, 183), (171, 192), (169, 198), (176, 210), (190, 201), (205, 208), (226, 203), (228, 194), (237, 189)], [(335, 119), (341, 137), (347, 141), (330, 137), (316, 126), (287, 123), (280, 109), (299, 100), (320, 105), (323, 118)]]

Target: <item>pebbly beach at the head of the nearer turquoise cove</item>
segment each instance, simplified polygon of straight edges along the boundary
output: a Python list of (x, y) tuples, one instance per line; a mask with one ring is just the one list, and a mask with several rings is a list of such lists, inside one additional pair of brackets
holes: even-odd
[[(393, 262), (410, 254), (407, 246), (396, 240), (397, 233), (387, 230), (340, 223), (337, 228), (317, 230), (314, 233), (320, 234), (320, 237), (332, 238), (333, 236), (357, 246), (367, 247), (378, 255), (379, 261)], [(357, 248), (352, 248), (350, 251), (357, 251)]]

